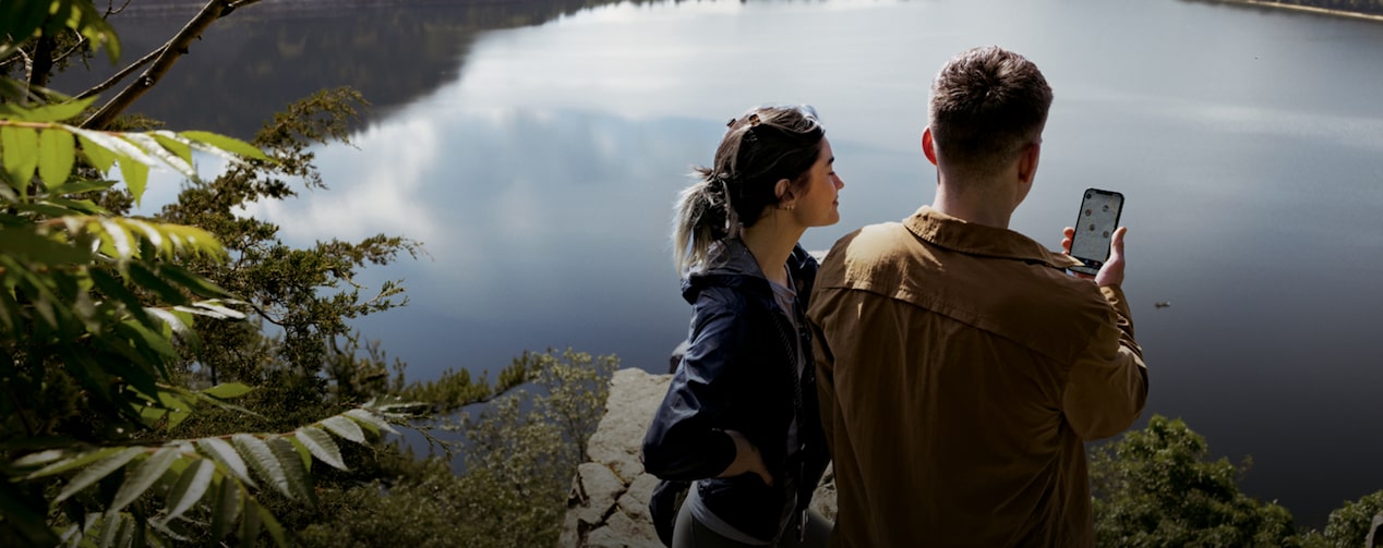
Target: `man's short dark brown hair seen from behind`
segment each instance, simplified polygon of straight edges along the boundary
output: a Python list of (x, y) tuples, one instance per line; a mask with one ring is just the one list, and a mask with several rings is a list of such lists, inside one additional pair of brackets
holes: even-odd
[(949, 166), (990, 174), (1039, 142), (1051, 87), (1037, 65), (997, 46), (953, 57), (932, 81), (932, 142)]

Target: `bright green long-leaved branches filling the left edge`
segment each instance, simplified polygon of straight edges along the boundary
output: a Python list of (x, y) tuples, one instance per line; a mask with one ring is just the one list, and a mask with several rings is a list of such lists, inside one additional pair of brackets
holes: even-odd
[[(0, 4), (6, 65), (51, 66), (30, 55), (68, 33), (118, 57), (90, 1)], [(94, 98), (36, 87), (44, 79), (33, 70), (26, 81), (0, 79), (0, 544), (253, 542), (261, 529), (286, 544), (260, 497), (311, 507), (313, 464), (346, 469), (336, 440), (391, 432), (384, 418), (401, 409), (362, 402), (289, 429), (170, 436), (207, 406), (254, 415), (231, 403), (252, 392), (245, 384), (183, 382), (206, 351), (195, 316), (239, 320), (245, 302), (191, 268), (227, 260), (214, 235), (123, 215), (129, 202), (109, 199), (106, 179), (119, 166), (138, 202), (151, 166), (201, 184), (194, 150), (252, 168), (282, 164), (201, 131), (69, 124)]]

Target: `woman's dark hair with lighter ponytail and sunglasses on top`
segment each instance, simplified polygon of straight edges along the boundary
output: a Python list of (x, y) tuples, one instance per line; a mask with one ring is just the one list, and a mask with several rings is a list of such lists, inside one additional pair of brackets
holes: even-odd
[(705, 261), (711, 243), (754, 226), (780, 199), (774, 186), (806, 184), (822, 155), (826, 128), (810, 106), (761, 106), (730, 120), (712, 167), (697, 167), (697, 182), (682, 190), (672, 229), (679, 273)]

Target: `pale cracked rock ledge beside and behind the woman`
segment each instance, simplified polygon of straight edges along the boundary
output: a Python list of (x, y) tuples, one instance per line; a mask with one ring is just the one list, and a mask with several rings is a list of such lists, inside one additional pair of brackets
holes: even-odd
[[(676, 362), (674, 362), (676, 363)], [(591, 458), (578, 468), (567, 498), (561, 548), (660, 548), (649, 518), (649, 497), (658, 479), (643, 471), (643, 433), (662, 403), (672, 375), (622, 369), (610, 380), (606, 415), (586, 444)], [(812, 509), (835, 519), (835, 475), (827, 469)]]

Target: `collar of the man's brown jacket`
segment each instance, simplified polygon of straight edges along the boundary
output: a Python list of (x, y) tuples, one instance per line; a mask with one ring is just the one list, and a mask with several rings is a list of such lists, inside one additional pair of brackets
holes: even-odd
[(1018, 232), (967, 222), (936, 211), (931, 206), (918, 208), (911, 217), (903, 219), (903, 225), (917, 237), (938, 247), (971, 255), (1040, 262), (1058, 269), (1082, 264), (1070, 255), (1052, 253)]

